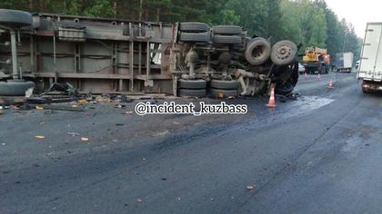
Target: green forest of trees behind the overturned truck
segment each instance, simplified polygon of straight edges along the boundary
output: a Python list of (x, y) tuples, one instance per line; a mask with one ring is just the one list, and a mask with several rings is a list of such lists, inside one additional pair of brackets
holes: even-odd
[(339, 19), (325, 0), (2, 0), (0, 8), (62, 15), (207, 24), (238, 24), (249, 35), (272, 42), (353, 52), (357, 60), (362, 40), (354, 26)]

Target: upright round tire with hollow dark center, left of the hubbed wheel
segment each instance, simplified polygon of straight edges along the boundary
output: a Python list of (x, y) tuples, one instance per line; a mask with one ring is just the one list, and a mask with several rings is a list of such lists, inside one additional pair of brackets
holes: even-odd
[(246, 44), (246, 61), (252, 65), (266, 63), (271, 52), (272, 48), (266, 39), (261, 37), (251, 39)]

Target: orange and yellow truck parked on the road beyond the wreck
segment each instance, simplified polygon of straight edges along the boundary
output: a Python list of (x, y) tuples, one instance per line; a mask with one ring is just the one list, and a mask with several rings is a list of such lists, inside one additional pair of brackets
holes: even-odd
[(327, 49), (307, 47), (303, 56), (303, 65), (307, 73), (328, 73), (330, 55), (327, 54)]

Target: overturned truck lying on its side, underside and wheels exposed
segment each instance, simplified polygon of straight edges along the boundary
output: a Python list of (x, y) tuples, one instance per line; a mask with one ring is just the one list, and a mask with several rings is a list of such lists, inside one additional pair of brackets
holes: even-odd
[(296, 44), (244, 28), (0, 9), (0, 95), (69, 83), (80, 92), (212, 97), (293, 91)]

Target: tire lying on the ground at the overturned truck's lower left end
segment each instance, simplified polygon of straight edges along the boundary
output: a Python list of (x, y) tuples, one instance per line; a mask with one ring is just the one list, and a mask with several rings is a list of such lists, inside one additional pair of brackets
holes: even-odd
[(8, 80), (7, 82), (0, 82), (0, 95), (25, 96), (25, 91), (30, 88), (35, 88), (35, 83), (24, 80)]

